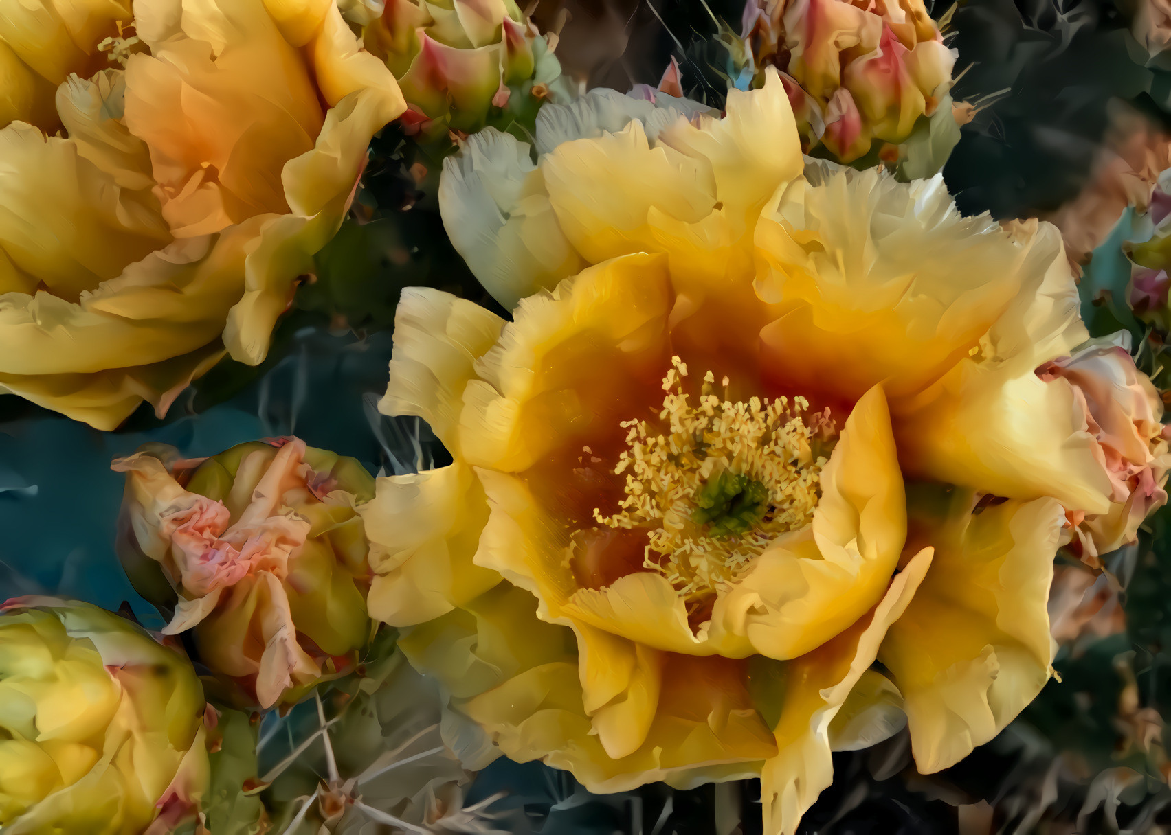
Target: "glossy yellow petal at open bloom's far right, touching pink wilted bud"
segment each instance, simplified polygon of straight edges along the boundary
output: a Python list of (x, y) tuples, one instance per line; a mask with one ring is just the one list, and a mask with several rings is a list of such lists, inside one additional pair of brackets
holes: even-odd
[(1110, 484), (1095, 458), (1084, 410), (1067, 380), (1035, 370), (1086, 340), (1077, 289), (1048, 223), (1011, 230), (1021, 246), (1055, 250), (1047, 269), (936, 385), (892, 401), (899, 458), (912, 475), (1008, 498), (1059, 498), (1105, 512)]

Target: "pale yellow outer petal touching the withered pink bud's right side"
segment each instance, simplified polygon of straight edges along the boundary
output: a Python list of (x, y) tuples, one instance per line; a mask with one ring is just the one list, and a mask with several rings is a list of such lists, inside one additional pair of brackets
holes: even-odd
[(393, 627), (451, 612), (500, 582), (472, 564), (488, 503), (457, 461), (426, 472), (379, 478), (358, 512), (370, 540), (370, 616)]

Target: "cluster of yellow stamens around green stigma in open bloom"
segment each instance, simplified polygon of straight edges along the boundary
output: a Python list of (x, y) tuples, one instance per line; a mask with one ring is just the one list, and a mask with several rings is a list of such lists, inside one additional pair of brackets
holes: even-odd
[(828, 410), (804, 398), (731, 401), (707, 372), (696, 402), (687, 366), (672, 357), (655, 423), (629, 420), (615, 472), (625, 474), (619, 512), (594, 518), (648, 530), (644, 567), (660, 572), (689, 603), (735, 579), (780, 533), (813, 518), (821, 470), (837, 437)]

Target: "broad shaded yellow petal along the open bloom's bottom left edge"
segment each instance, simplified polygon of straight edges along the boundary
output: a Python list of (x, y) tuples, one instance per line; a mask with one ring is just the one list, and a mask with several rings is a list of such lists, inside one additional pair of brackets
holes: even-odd
[[(457, 751), (463, 744), (478, 752), (480, 759), (471, 761), (491, 759), (494, 744), (495, 753), (541, 759), (568, 768), (593, 792), (615, 792), (655, 780), (693, 787), (747, 778), (775, 751), (747, 695), (745, 662), (665, 656), (645, 741), (611, 758), (586, 712), (573, 630), (541, 622), (534, 609), (528, 592), (501, 584), (466, 609), (411, 627), (399, 641), (417, 669), (438, 676), (454, 695), (447, 739)], [(635, 662), (631, 669), (649, 672), (653, 665)], [(583, 675), (597, 688), (591, 706), (623, 683), (621, 671), (588, 668)], [(639, 675), (631, 677), (636, 686)], [(631, 708), (638, 712), (637, 703)], [(639, 726), (623, 722), (616, 727)]]

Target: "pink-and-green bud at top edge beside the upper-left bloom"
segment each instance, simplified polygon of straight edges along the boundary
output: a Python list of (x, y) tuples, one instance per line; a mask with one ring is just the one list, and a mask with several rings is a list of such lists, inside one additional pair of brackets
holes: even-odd
[(386, 0), (363, 29), (403, 90), (404, 122), (429, 138), (532, 122), (545, 101), (568, 97), (550, 39), (514, 0)]

